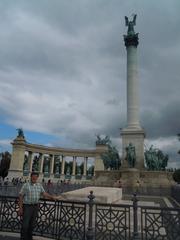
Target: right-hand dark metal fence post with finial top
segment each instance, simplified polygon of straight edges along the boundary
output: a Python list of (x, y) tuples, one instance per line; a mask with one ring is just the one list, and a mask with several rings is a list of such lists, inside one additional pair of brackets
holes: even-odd
[(132, 239), (136, 240), (139, 239), (139, 234), (138, 234), (138, 214), (137, 214), (137, 210), (138, 210), (138, 199), (137, 199), (137, 194), (134, 193), (133, 194), (133, 235), (132, 235)]

